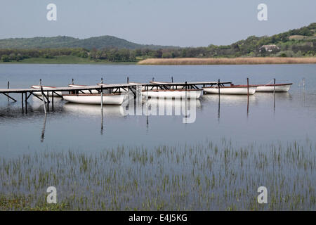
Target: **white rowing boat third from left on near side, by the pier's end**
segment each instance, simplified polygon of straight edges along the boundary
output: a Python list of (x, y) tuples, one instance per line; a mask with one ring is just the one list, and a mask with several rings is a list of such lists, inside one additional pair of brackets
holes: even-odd
[[(219, 89), (220, 94), (248, 94), (246, 85), (220, 86)], [(249, 94), (255, 94), (256, 89), (256, 85), (249, 85)], [(218, 86), (205, 86), (203, 90), (209, 94), (218, 94)]]

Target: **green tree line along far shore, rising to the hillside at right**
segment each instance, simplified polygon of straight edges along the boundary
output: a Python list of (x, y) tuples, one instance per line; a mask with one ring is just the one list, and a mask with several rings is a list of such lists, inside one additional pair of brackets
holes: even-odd
[[(296, 30), (289, 30), (270, 37), (250, 36), (230, 45), (206, 47), (167, 48), (167, 49), (0, 49), (0, 59), (4, 62), (20, 61), (25, 58), (55, 58), (58, 56), (77, 56), (91, 60), (107, 60), (110, 62), (133, 62), (145, 58), (210, 58), (210, 57), (240, 57), (240, 56), (281, 56), (301, 57), (315, 56), (316, 53), (316, 23)], [(294, 36), (301, 39), (295, 39)], [(274, 44), (278, 48), (265, 51), (263, 45)]]

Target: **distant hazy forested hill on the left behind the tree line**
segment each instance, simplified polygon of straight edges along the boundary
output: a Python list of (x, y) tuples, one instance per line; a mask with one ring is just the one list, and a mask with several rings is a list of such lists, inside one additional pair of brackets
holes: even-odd
[(84, 49), (174, 49), (175, 46), (159, 46), (136, 44), (113, 36), (90, 37), (77, 39), (74, 37), (32, 37), (0, 39), (0, 49), (56, 49), (56, 48), (84, 48)]

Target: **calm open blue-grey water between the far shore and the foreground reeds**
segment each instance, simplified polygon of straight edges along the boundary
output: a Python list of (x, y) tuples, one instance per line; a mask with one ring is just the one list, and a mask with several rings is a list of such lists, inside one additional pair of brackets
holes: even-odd
[[(27, 114), (18, 103), (0, 96), (0, 134), (2, 156), (35, 150), (84, 150), (98, 152), (105, 147), (155, 146), (197, 143), (204, 139), (231, 139), (236, 145), (256, 142), (315, 140), (316, 65), (211, 65), (211, 66), (137, 66), (137, 65), (0, 65), (0, 85), (12, 88), (38, 84), (67, 86), (76, 84), (157, 81), (232, 81), (234, 84), (293, 82), (289, 93), (222, 96), (204, 95), (197, 101), (196, 121), (182, 122), (183, 116), (126, 115), (122, 106), (100, 107), (55, 102), (55, 111), (44, 115), (41, 102), (30, 98)], [(302, 79), (305, 78), (303, 90)], [(55, 98), (56, 99), (56, 98)], [(147, 124), (148, 122), (148, 124)]]

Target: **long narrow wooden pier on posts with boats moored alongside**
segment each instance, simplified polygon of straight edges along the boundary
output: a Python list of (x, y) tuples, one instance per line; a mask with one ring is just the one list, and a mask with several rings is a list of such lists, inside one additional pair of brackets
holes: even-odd
[[(129, 78), (127, 79), (129, 81)], [(9, 84), (9, 83), (8, 83)], [(175, 87), (181, 86), (181, 89), (202, 89), (204, 86), (224, 86), (225, 84), (232, 84), (232, 82), (174, 82), (174, 83), (159, 83), (159, 84), (151, 84), (151, 83), (126, 83), (126, 84), (102, 84), (102, 85), (93, 85), (93, 86), (78, 86), (78, 87), (70, 87), (70, 86), (62, 86), (62, 87), (53, 87), (53, 89), (43, 89), (45, 86), (41, 86), (41, 89), (0, 89), (0, 94), (4, 94), (8, 97), (8, 100), (17, 101), (10, 94), (21, 94), (21, 102), (22, 102), (22, 113), (27, 113), (27, 100), (30, 96), (35, 96), (39, 98), (39, 100), (43, 101), (44, 106), (47, 103), (47, 108), (49, 110), (49, 104), (51, 103), (51, 108), (53, 110), (53, 101), (54, 95), (60, 96), (58, 91), (68, 92), (69, 94), (80, 94), (84, 93), (83, 91), (98, 91), (99, 93), (103, 93), (104, 90), (109, 90), (110, 93), (118, 93), (121, 91), (131, 91), (134, 96), (136, 96), (136, 88), (137, 86), (145, 86), (145, 90), (154, 90), (154, 89), (174, 89)], [(9, 86), (9, 85), (8, 85)], [(180, 88), (179, 88), (180, 89)], [(37, 96), (34, 93), (41, 93), (41, 96)], [(51, 96), (51, 100), (48, 98)], [(24, 106), (25, 105), (25, 106)], [(44, 107), (46, 112), (46, 107)]]

